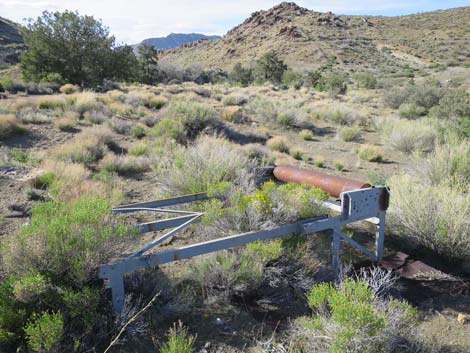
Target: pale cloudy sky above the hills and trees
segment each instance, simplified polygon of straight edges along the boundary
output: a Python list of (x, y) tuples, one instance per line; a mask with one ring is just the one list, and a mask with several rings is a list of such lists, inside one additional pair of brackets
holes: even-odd
[[(77, 10), (109, 27), (120, 43), (135, 44), (170, 33), (225, 34), (254, 11), (281, 0), (0, 0), (0, 16), (25, 23), (42, 11)], [(315, 11), (352, 15), (404, 15), (459, 6), (470, 0), (298, 0)]]

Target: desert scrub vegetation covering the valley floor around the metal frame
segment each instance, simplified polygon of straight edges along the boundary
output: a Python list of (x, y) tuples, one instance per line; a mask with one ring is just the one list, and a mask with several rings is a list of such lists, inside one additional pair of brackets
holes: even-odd
[[(82, 31), (83, 55), (112, 72), (78, 65), (80, 43), (60, 47), (63, 71), (51, 28)], [(0, 351), (470, 349), (455, 318), (470, 274), (468, 67), (392, 74), (330, 57), (300, 69), (266, 50), (222, 71), (169, 64), (151, 46), (135, 56), (78, 13), (45, 13), (24, 31), (23, 77), (0, 73)], [(273, 164), (390, 186), (386, 255), (426, 259), (439, 271), (423, 286), (439, 277), (461, 291), (443, 289), (449, 302), (433, 307), (392, 272), (348, 268), (364, 258), (347, 246), (334, 278), (327, 235), (291, 234), (128, 274), (124, 313), (113, 314), (98, 266), (158, 235), (137, 234), (113, 206), (207, 192), (183, 206), (200, 221), (163, 249), (330, 212), (320, 189), (258, 183), (257, 167)], [(373, 245), (365, 224), (344, 232)], [(429, 328), (436, 320), (446, 337)]]

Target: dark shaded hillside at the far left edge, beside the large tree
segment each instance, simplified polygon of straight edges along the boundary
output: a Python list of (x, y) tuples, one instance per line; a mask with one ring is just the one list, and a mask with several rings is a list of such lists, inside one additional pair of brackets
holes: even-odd
[(16, 63), (22, 49), (23, 38), (18, 25), (0, 17), (0, 65)]

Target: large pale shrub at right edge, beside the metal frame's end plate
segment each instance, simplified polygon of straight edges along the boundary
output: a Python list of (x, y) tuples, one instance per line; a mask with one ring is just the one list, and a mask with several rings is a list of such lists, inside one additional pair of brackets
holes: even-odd
[(390, 224), (398, 235), (448, 258), (470, 256), (470, 193), (468, 184), (424, 183), (393, 176)]

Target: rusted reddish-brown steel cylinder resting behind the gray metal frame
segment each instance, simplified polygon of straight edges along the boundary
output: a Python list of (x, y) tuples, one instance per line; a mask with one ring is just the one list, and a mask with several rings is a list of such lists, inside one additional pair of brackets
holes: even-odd
[(275, 167), (277, 180), (293, 183), (305, 183), (326, 191), (333, 197), (339, 197), (343, 191), (368, 188), (371, 185), (363, 181), (343, 178), (334, 175), (317, 173), (296, 167)]

